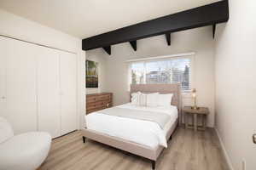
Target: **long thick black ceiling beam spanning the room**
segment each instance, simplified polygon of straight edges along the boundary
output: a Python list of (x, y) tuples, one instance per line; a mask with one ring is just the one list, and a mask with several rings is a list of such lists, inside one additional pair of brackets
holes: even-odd
[(82, 48), (90, 50), (108, 47), (117, 43), (133, 42), (146, 37), (164, 35), (201, 26), (213, 26), (228, 20), (229, 2), (228, 0), (223, 0), (85, 38), (82, 41)]

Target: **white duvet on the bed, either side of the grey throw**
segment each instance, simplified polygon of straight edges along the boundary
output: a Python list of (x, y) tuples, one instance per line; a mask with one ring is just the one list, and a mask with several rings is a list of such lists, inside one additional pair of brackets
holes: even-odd
[(147, 145), (152, 148), (155, 148), (158, 145), (167, 147), (166, 133), (177, 120), (176, 106), (146, 107), (131, 105), (129, 103), (119, 105), (117, 107), (162, 112), (169, 114), (171, 118), (166, 123), (166, 127), (162, 129), (156, 122), (148, 122), (120, 116), (109, 116), (94, 112), (85, 116), (86, 127), (99, 133), (106, 133), (110, 136), (119, 137), (121, 139), (129, 140), (137, 144)]

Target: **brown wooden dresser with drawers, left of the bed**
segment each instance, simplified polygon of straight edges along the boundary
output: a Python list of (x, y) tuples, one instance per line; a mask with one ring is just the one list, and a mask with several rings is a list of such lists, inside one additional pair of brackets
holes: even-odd
[(112, 93), (87, 94), (86, 95), (86, 114), (100, 111), (113, 105)]

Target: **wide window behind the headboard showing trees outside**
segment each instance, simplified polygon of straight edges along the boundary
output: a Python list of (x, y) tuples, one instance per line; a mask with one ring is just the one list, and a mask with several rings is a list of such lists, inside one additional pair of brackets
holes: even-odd
[(131, 83), (177, 83), (190, 89), (190, 60), (166, 59), (131, 64)]

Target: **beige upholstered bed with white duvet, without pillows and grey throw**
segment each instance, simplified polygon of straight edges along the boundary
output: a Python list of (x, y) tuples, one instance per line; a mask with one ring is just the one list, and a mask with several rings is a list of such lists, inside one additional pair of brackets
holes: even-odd
[[(155, 162), (160, 153), (167, 147), (166, 140), (172, 139), (176, 127), (181, 120), (181, 94), (180, 84), (134, 84), (131, 85), (131, 94), (142, 92), (145, 94), (158, 92), (160, 94), (173, 94), (172, 104), (165, 107), (137, 107), (125, 104), (117, 106), (120, 111), (129, 109), (133, 111), (158, 111), (169, 114), (170, 119), (162, 127), (155, 122), (136, 120), (119, 116), (108, 116), (94, 112), (86, 118), (86, 127), (82, 130), (83, 140), (92, 139), (102, 144), (108, 144), (119, 150), (125, 150), (137, 156), (143, 156)], [(111, 124), (111, 126), (109, 126)]]

